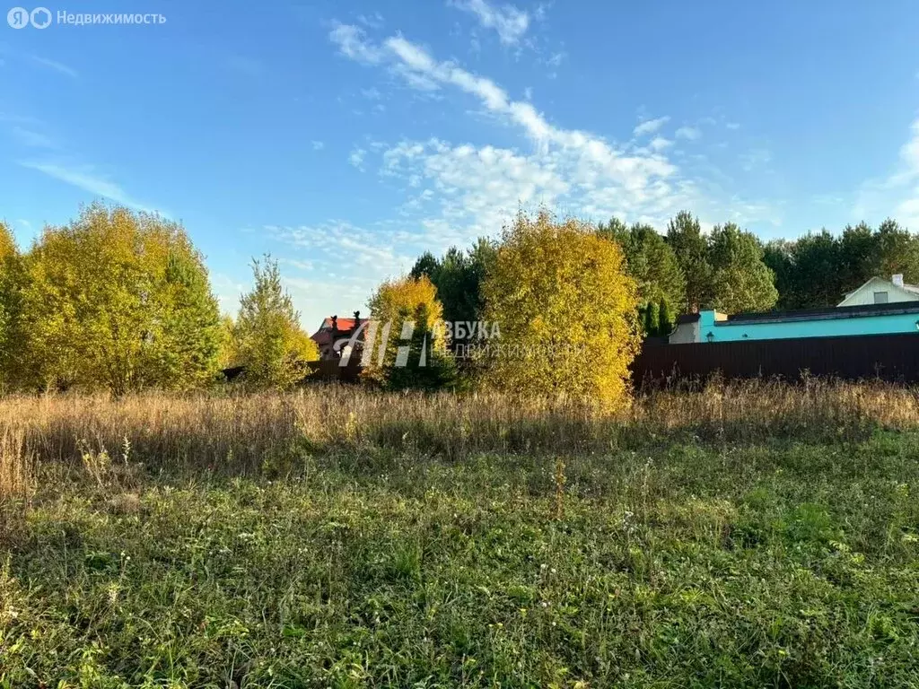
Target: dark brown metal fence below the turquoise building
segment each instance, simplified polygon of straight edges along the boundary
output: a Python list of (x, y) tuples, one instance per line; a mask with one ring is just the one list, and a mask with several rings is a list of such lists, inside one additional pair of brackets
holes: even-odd
[(812, 376), (857, 380), (919, 381), (919, 333), (800, 337), (698, 344), (647, 342), (632, 363), (636, 385), (676, 379), (724, 378), (800, 380)]

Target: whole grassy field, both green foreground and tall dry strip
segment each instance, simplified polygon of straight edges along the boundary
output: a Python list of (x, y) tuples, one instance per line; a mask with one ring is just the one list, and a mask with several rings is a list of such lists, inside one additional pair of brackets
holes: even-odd
[(0, 687), (919, 686), (919, 398), (0, 401)]

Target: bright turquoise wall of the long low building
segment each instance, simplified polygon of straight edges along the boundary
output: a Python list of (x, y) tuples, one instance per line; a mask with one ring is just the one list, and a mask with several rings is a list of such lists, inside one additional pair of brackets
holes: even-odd
[[(840, 314), (842, 315), (842, 314)], [(709, 337), (709, 333), (712, 337)], [(701, 342), (733, 342), (736, 340), (779, 340), (790, 337), (833, 337), (838, 335), (878, 335), (917, 333), (919, 313), (852, 315), (847, 317), (817, 316), (808, 319), (776, 319), (775, 321), (743, 320), (716, 321), (715, 311), (699, 313)]]

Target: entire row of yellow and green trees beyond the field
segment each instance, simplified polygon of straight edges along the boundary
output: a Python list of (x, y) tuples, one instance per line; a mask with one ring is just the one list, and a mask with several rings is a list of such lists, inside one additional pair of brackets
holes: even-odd
[[(253, 272), (230, 318), (176, 222), (94, 204), (27, 251), (0, 223), (0, 386), (192, 390), (239, 367), (245, 385), (287, 387), (318, 350), (278, 263), (255, 260)], [(833, 306), (893, 273), (919, 279), (919, 238), (893, 220), (762, 243), (733, 223), (703, 232), (687, 211), (663, 233), (520, 213), (496, 238), (425, 253), (375, 290), (371, 317), (410, 334), (393, 335), (362, 375), (397, 390), (497, 386), (613, 403), (641, 337), (669, 333), (679, 313)], [(444, 321), (499, 323), (501, 346), (481, 346), (473, 329), (448, 340)]]

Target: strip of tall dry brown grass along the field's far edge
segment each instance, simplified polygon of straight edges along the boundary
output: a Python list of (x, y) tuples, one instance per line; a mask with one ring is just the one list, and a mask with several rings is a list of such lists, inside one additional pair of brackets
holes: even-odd
[[(854, 439), (877, 426), (919, 425), (919, 393), (880, 383), (753, 381), (656, 391), (623, 412), (583, 402), (498, 394), (403, 395), (314, 387), (287, 394), (7, 397), (0, 400), (5, 485), (15, 457), (86, 465), (259, 469), (267, 457), (386, 448), (458, 459), (477, 452), (569, 454), (668, 438), (760, 442)], [(13, 457), (8, 459), (7, 457)], [(21, 464), (21, 463), (20, 463)], [(20, 466), (20, 469), (16, 469)], [(19, 473), (17, 473), (19, 472)], [(6, 489), (4, 489), (6, 490)]]

